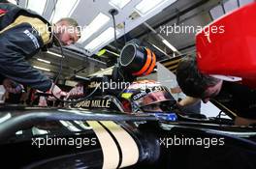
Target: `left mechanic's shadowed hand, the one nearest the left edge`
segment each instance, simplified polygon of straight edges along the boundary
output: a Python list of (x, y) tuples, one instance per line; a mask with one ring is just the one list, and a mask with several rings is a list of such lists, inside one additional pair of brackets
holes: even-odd
[(14, 80), (10, 78), (6, 78), (3, 81), (3, 86), (5, 87), (5, 90), (7, 92), (12, 94), (20, 94), (24, 90), (23, 85), (16, 83)]

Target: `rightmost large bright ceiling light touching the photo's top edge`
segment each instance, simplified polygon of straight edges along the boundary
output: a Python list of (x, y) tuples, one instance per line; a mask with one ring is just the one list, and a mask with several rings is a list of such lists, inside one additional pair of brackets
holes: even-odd
[[(159, 7), (163, 2), (167, 0), (142, 0), (135, 9), (139, 11), (141, 14), (146, 14), (151, 10)], [(176, 0), (170, 0), (172, 3), (176, 2)]]

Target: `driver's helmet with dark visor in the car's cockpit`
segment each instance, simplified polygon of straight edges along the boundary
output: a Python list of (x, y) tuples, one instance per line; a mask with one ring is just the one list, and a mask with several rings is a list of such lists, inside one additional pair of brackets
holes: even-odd
[(130, 84), (121, 93), (121, 98), (129, 100), (135, 112), (166, 112), (172, 110), (176, 100), (168, 88), (154, 80), (140, 80)]

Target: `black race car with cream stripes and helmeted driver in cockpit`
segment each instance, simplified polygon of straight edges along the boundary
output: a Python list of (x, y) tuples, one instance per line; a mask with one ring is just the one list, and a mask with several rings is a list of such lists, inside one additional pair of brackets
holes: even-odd
[[(121, 55), (125, 57), (112, 76), (91, 77), (80, 83), (69, 93), (65, 107), (2, 106), (2, 165), (255, 168), (255, 127), (236, 127), (233, 120), (220, 116), (183, 113), (165, 86), (153, 80), (135, 80), (136, 75), (125, 73), (123, 68), (138, 59), (138, 54), (130, 60), (127, 57), (131, 55), (126, 54), (138, 53), (137, 49), (136, 44), (127, 44)], [(110, 82), (121, 83), (119, 90), (106, 87)]]

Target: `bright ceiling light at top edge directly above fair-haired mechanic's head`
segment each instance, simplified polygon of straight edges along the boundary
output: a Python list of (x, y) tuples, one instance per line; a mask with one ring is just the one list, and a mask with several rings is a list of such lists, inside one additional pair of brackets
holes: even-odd
[(80, 0), (58, 0), (54, 11), (50, 16), (51, 22), (55, 23), (62, 17), (69, 17), (78, 7)]

